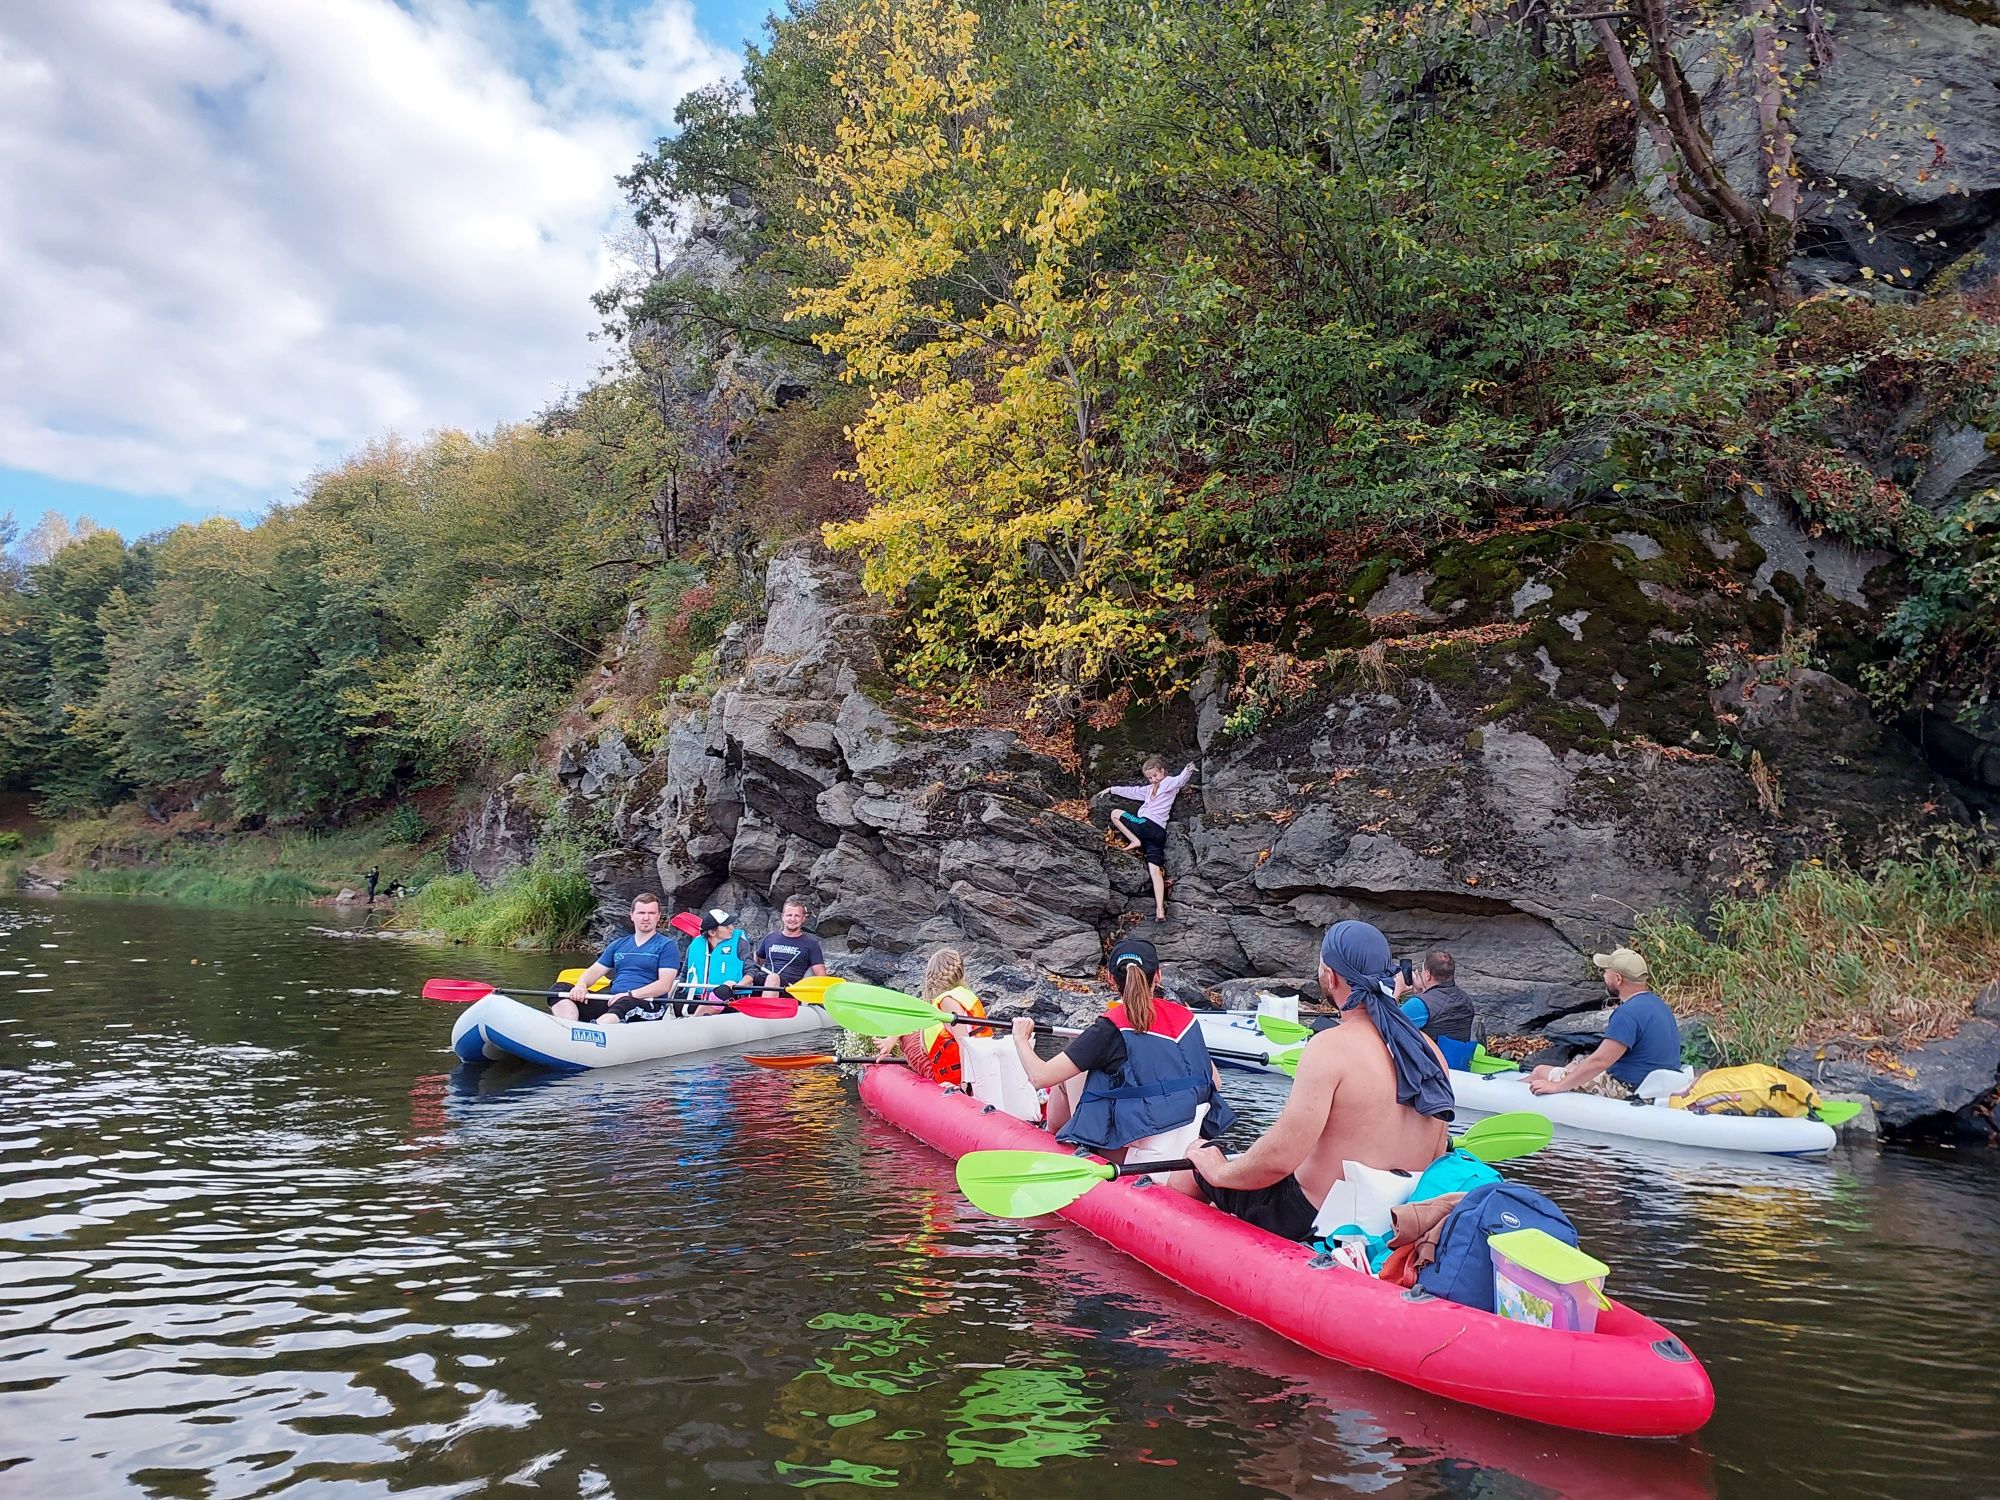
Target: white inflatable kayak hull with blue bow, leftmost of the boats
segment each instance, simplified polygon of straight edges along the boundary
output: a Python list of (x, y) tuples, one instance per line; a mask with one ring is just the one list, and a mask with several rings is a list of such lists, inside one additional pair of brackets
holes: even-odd
[(452, 1026), (452, 1052), (460, 1062), (500, 1062), (516, 1058), (538, 1068), (586, 1072), (588, 1068), (618, 1068), (626, 1062), (676, 1058), (682, 1052), (708, 1052), (718, 1046), (768, 1042), (774, 1036), (816, 1032), (826, 1026), (826, 1012), (800, 1006), (784, 1020), (758, 1020), (726, 1012), (722, 1016), (672, 1016), (668, 1020), (632, 1020), (616, 1026), (558, 1020), (546, 1010), (490, 994), (474, 1000)]

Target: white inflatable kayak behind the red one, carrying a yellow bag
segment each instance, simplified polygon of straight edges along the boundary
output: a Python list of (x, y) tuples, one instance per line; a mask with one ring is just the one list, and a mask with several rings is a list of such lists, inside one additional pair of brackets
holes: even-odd
[[(1274, 1048), (1248, 1010), (1202, 1014), (1202, 1040), (1218, 1062), (1254, 1068), (1250, 1058), (1270, 1064)], [(1270, 1068), (1276, 1072), (1276, 1068)], [(1756, 1152), (1760, 1156), (1826, 1156), (1834, 1148), (1834, 1128), (1824, 1120), (1786, 1120), (1746, 1114), (1690, 1114), (1666, 1104), (1634, 1104), (1630, 1100), (1598, 1098), (1596, 1094), (1532, 1094), (1520, 1072), (1474, 1074), (1452, 1070), (1452, 1098), (1466, 1114), (1506, 1114), (1526, 1110), (1542, 1114), (1558, 1128), (1586, 1130), (1620, 1140), (1658, 1140), (1670, 1146), (1694, 1146), (1716, 1152)]]

